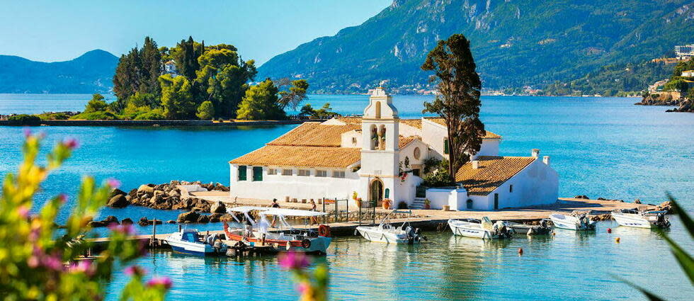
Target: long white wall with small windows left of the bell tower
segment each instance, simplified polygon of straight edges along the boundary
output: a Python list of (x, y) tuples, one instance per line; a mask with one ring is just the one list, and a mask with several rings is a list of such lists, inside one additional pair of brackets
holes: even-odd
[[(263, 166), (263, 181), (253, 181), (252, 166), (247, 167), (246, 181), (238, 181), (238, 165), (229, 164), (231, 183), (229, 194), (232, 200), (239, 198), (259, 198), (284, 201), (285, 197), (305, 199), (351, 198), (358, 190), (359, 176), (352, 169), (319, 169), (328, 172), (326, 177), (316, 176), (317, 169)], [(268, 175), (268, 169), (275, 168), (276, 175)], [(292, 176), (283, 176), (282, 169), (292, 169)], [(308, 169), (310, 176), (299, 176), (299, 169)], [(333, 178), (332, 171), (345, 171), (345, 178)]]

